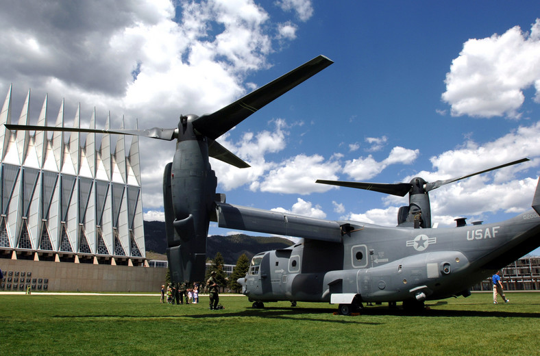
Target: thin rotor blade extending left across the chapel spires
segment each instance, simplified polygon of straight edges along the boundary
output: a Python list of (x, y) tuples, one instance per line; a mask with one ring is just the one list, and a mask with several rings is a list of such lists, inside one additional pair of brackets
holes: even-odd
[(64, 132), (84, 132), (84, 133), (116, 133), (119, 135), (132, 135), (132, 136), (145, 136), (149, 138), (158, 138), (159, 140), (171, 141), (175, 138), (175, 129), (160, 129), (154, 127), (153, 129), (83, 129), (76, 127), (54, 127), (54, 126), (38, 126), (38, 125), (15, 125), (4, 124), (5, 127), (12, 131), (26, 130), (26, 131), (64, 131)]

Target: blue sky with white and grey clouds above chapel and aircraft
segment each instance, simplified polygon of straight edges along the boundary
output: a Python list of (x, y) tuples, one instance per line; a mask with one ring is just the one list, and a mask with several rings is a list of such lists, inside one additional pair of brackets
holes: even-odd
[[(251, 165), (211, 159), (228, 203), (395, 226), (407, 197), (315, 180), (434, 181), (528, 157), (430, 198), (439, 227), (530, 209), (537, 1), (0, 1), (0, 97), (13, 84), (15, 113), (31, 88), (31, 124), (48, 94), (49, 125), (64, 98), (66, 126), (80, 103), (81, 127), (95, 108), (98, 128), (108, 112), (112, 128), (122, 118), (173, 128), (180, 114), (217, 111), (319, 54), (333, 60), (218, 139)], [(145, 220), (164, 220), (175, 144), (139, 144)]]

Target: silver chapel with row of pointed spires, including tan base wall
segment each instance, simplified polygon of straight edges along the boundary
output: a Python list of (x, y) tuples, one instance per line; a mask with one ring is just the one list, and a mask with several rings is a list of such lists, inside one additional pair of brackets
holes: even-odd
[[(11, 94), (0, 113), (0, 268), (12, 275), (0, 290), (158, 290), (162, 268), (138, 268), (148, 264), (137, 136), (112, 149), (106, 133), (10, 131)], [(37, 124), (29, 97), (17, 123), (51, 125), (47, 97)], [(79, 105), (74, 128), (80, 115)], [(63, 101), (54, 125), (67, 127)]]

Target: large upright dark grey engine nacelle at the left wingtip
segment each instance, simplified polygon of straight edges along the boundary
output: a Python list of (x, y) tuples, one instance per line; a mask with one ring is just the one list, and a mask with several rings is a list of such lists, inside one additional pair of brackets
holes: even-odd
[(206, 140), (177, 142), (173, 163), (167, 164), (163, 176), (167, 258), (175, 282), (204, 280), (216, 186)]

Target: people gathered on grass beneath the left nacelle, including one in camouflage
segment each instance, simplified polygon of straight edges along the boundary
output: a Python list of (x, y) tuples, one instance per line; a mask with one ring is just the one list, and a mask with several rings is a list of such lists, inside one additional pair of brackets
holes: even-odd
[[(186, 288), (186, 283), (173, 283), (169, 284), (167, 288), (165, 285), (161, 285), (161, 299), (160, 303), (169, 304), (184, 304), (184, 298), (186, 304), (199, 303), (199, 288), (201, 285), (197, 282), (193, 283), (193, 288)], [(210, 273), (210, 278), (206, 281), (206, 288), (208, 288), (208, 294), (210, 296), (210, 310), (223, 309), (219, 306), (219, 284), (216, 279), (216, 272)]]

